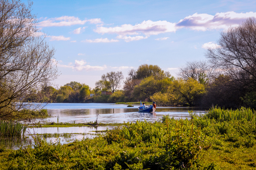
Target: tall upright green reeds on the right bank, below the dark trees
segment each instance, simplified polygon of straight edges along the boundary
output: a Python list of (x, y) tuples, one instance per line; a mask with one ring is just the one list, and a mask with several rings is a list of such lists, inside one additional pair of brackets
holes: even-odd
[(240, 109), (232, 110), (232, 109), (221, 109), (220, 107), (212, 107), (209, 109), (209, 112), (206, 114), (210, 119), (214, 118), (216, 120), (242, 120), (246, 119), (247, 121), (251, 121), (256, 123), (255, 110), (250, 108), (241, 107)]

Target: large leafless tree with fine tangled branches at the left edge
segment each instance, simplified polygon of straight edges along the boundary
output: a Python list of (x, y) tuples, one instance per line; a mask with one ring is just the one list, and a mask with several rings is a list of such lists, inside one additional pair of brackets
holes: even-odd
[(54, 48), (36, 35), (32, 2), (0, 0), (0, 119), (27, 119), (21, 108), (58, 76)]

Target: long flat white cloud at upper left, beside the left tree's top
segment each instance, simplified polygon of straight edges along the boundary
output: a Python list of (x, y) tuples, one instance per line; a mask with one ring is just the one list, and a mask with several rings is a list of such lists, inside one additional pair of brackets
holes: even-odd
[(102, 23), (100, 18), (94, 18), (89, 20), (80, 20), (78, 17), (73, 16), (62, 16), (58, 18), (50, 18), (45, 21), (41, 21), (38, 23), (39, 27), (61, 27), (61, 26), (71, 26), (71, 25), (83, 25), (86, 22), (90, 22), (91, 24), (100, 24)]

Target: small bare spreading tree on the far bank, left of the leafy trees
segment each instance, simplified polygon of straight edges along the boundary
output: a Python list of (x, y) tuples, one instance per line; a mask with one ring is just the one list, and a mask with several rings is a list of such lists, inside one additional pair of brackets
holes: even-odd
[(122, 71), (111, 71), (106, 75), (101, 76), (101, 80), (105, 82), (107, 88), (111, 89), (112, 93), (115, 92), (116, 88), (121, 86), (121, 82), (124, 79)]

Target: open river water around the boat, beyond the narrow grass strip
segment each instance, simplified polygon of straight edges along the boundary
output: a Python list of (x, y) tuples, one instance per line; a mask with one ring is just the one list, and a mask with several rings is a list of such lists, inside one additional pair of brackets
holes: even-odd
[(134, 107), (127, 107), (122, 104), (105, 104), (105, 103), (50, 103), (45, 106), (50, 118), (38, 119), (36, 122), (75, 122), (86, 123), (96, 121), (100, 123), (123, 123), (123, 122), (136, 122), (148, 121), (155, 122), (160, 120), (164, 115), (174, 117), (176, 119), (190, 118), (188, 111), (204, 113), (205, 110), (195, 107), (157, 107), (154, 113), (139, 113), (139, 105)]

